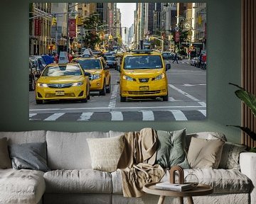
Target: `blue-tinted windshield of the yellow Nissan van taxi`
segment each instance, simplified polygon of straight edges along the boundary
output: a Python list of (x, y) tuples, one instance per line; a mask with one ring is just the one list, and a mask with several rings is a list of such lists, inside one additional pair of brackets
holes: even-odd
[(159, 55), (127, 56), (124, 59), (124, 69), (160, 69), (162, 67)]

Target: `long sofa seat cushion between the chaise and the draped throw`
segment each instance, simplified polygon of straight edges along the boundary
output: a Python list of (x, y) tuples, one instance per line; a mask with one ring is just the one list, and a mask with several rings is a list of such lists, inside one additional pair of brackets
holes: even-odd
[(111, 174), (92, 169), (55, 170), (43, 175), (47, 193), (111, 193)]

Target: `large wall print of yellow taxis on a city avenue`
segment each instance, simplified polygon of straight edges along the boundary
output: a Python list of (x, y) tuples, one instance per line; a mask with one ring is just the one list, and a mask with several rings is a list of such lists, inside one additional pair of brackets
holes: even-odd
[(206, 120), (206, 3), (30, 3), (29, 120)]

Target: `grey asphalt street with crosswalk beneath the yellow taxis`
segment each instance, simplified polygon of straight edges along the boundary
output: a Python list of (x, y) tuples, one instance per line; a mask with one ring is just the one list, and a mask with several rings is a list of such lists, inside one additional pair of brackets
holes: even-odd
[(50, 101), (36, 104), (35, 91), (29, 91), (29, 120), (55, 121), (174, 121), (206, 119), (206, 70), (193, 67), (189, 60), (171, 64), (166, 72), (169, 100), (161, 98), (120, 102), (119, 72), (110, 69), (111, 93), (99, 96), (91, 93), (87, 103)]

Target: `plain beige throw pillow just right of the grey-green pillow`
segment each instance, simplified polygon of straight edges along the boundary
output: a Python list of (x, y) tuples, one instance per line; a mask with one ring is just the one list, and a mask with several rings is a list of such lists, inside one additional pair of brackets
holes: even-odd
[(223, 140), (206, 140), (191, 137), (188, 148), (188, 164), (193, 169), (217, 169), (223, 150)]

